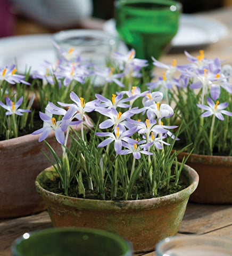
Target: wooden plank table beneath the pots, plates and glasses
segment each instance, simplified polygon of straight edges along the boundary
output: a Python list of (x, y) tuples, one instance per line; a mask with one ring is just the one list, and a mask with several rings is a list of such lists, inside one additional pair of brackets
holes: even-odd
[[(232, 63), (232, 7), (201, 14), (224, 22), (230, 31), (227, 38), (205, 47), (206, 58), (219, 57), (220, 59), (226, 59), (228, 63)], [(198, 55), (198, 51), (189, 53), (195, 56)], [(186, 63), (183, 53), (166, 54), (160, 61), (171, 63), (173, 59), (177, 59), (178, 64)], [(49, 227), (52, 227), (52, 223), (46, 211), (28, 217), (0, 220), (0, 255), (11, 255), (12, 242), (23, 233)], [(232, 205), (188, 203), (178, 234), (210, 234), (232, 238)], [(155, 252), (137, 255), (151, 256), (155, 255)]]

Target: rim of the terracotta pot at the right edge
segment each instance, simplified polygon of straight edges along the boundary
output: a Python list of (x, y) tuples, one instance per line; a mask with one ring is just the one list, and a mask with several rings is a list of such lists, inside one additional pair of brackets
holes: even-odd
[[(180, 155), (188, 155), (189, 153), (187, 152), (181, 152)], [(195, 163), (202, 163), (202, 158), (207, 159), (208, 162), (210, 163), (223, 163), (225, 162), (229, 165), (232, 165), (232, 156), (209, 156), (209, 155), (200, 155), (200, 154), (191, 154), (189, 156), (188, 162), (191, 162), (191, 159), (194, 159)]]

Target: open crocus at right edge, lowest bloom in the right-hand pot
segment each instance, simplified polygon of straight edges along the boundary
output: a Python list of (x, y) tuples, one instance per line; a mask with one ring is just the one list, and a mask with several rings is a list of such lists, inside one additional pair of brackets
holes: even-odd
[(219, 101), (217, 101), (216, 103), (213, 102), (213, 100), (211, 98), (207, 98), (207, 103), (209, 106), (207, 105), (202, 105), (202, 104), (197, 104), (197, 107), (206, 110), (202, 116), (203, 117), (208, 117), (211, 115), (216, 116), (218, 119), (220, 119), (221, 121), (224, 120), (224, 117), (222, 114), (227, 115), (227, 116), (232, 116), (232, 113), (230, 111), (224, 110), (226, 107), (228, 107), (229, 103), (228, 102), (223, 102), (219, 104)]

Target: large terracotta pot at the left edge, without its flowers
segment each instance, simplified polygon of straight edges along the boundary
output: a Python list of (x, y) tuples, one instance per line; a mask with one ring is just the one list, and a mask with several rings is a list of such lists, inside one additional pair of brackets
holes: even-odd
[[(36, 191), (35, 179), (51, 165), (42, 151), (51, 154), (44, 142), (38, 142), (39, 136), (28, 134), (0, 141), (0, 218), (21, 217), (46, 209)], [(62, 153), (54, 133), (46, 140), (57, 153)]]

